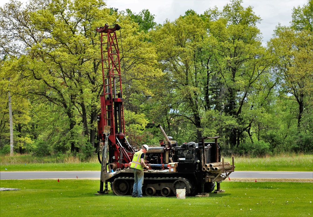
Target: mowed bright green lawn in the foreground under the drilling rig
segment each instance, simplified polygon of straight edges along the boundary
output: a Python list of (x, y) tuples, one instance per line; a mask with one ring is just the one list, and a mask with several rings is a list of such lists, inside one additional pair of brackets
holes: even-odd
[(210, 197), (95, 196), (99, 180), (1, 180), (0, 216), (310, 216), (312, 183), (223, 182)]

